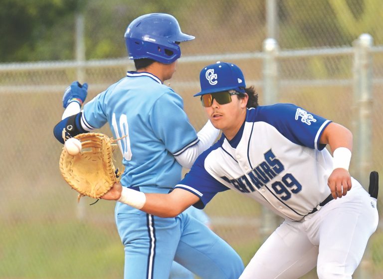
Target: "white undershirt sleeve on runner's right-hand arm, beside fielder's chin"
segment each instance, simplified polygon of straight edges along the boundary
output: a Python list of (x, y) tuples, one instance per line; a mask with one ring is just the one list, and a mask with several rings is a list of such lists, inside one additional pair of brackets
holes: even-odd
[(219, 130), (216, 129), (210, 120), (207, 120), (206, 124), (197, 133), (198, 143), (186, 149), (183, 153), (175, 156), (177, 162), (184, 168), (190, 169), (199, 154), (209, 148), (219, 135)]

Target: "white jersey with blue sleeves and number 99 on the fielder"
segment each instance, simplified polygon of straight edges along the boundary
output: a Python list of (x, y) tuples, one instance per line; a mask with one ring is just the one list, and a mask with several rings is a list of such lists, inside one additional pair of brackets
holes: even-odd
[(293, 104), (248, 109), (235, 137), (222, 135), (176, 187), (197, 195), (197, 208), (233, 189), (283, 218), (301, 220), (331, 194), (333, 158), (319, 143), (330, 122)]

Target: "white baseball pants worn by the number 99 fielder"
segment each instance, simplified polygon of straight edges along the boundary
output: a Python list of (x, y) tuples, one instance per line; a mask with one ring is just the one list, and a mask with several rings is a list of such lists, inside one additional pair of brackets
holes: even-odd
[(351, 279), (377, 226), (377, 200), (353, 180), (346, 196), (283, 222), (239, 279), (297, 279), (315, 266), (319, 279)]

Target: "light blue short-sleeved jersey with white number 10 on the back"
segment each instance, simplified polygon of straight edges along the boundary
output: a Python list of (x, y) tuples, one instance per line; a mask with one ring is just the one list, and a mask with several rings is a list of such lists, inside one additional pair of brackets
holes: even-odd
[(198, 142), (182, 98), (147, 72), (128, 72), (85, 104), (81, 122), (89, 129), (108, 122), (114, 138), (124, 137), (125, 187), (173, 188), (182, 170), (174, 156)]

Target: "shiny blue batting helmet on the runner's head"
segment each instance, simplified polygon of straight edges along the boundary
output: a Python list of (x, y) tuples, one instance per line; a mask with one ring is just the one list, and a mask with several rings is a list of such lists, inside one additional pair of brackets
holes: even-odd
[(129, 59), (150, 58), (170, 64), (181, 56), (181, 41), (194, 36), (181, 31), (177, 19), (167, 13), (149, 13), (133, 20), (125, 32)]

